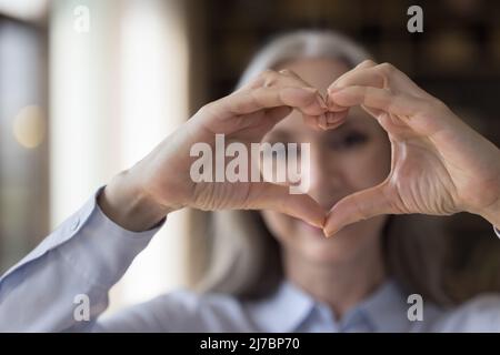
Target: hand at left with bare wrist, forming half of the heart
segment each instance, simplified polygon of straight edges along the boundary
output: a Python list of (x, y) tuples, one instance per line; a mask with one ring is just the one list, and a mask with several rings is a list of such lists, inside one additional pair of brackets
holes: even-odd
[[(291, 110), (309, 125), (324, 125), (327, 105), (318, 90), (290, 71), (266, 71), (234, 93), (201, 108), (130, 170), (117, 175), (99, 197), (102, 211), (130, 231), (152, 227), (169, 212), (274, 210), (322, 227), (326, 212), (307, 194), (269, 182), (193, 182), (191, 146), (204, 142), (214, 152), (216, 134), (241, 142), (250, 152)], [(214, 171), (214, 170), (213, 170)], [(250, 181), (250, 176), (249, 176)]]

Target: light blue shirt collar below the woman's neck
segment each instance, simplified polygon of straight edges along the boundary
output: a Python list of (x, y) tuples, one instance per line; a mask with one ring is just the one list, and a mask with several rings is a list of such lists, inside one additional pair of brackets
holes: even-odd
[[(324, 305), (289, 281), (283, 281), (270, 297), (248, 304), (258, 328), (271, 333), (297, 331), (314, 307)], [(406, 332), (412, 323), (408, 320), (408, 307), (401, 288), (389, 280), (349, 311), (338, 324), (339, 329), (363, 322), (372, 332)]]

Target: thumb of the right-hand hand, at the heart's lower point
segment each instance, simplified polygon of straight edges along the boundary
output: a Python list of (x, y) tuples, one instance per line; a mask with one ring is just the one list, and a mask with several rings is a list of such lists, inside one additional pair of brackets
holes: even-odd
[(332, 236), (349, 224), (376, 215), (394, 213), (384, 189), (386, 185), (380, 184), (340, 200), (327, 215), (323, 227), (324, 235)]

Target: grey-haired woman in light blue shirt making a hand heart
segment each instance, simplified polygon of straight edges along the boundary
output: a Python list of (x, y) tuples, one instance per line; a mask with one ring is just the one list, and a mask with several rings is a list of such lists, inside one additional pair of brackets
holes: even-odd
[[(366, 58), (333, 33), (292, 33), (270, 43), (234, 93), (203, 106), (98, 192), (98, 205), (91, 200), (0, 280), (0, 327), (500, 329), (499, 296), (448, 311), (426, 300), (429, 292), (419, 276), (421, 283), (407, 280), (424, 296), (423, 320), (419, 315), (413, 322), (408, 293), (394, 278), (398, 270), (388, 267), (393, 254), (383, 239), (388, 214), (467, 211), (499, 226), (500, 152), (396, 68)], [(253, 78), (257, 71), (263, 73)], [(194, 183), (190, 150), (199, 142), (213, 146), (216, 134), (246, 146), (261, 141), (310, 143), (308, 194), (290, 194), (287, 185), (272, 182)], [(251, 300), (181, 291), (98, 320), (108, 290), (164, 216), (187, 206), (259, 210), (263, 224), (256, 222), (247, 231), (276, 239), (282, 277), (253, 280), (274, 282)], [(232, 291), (243, 290), (246, 281)], [(217, 287), (217, 282), (208, 286)], [(88, 297), (88, 320), (73, 312), (77, 295)]]

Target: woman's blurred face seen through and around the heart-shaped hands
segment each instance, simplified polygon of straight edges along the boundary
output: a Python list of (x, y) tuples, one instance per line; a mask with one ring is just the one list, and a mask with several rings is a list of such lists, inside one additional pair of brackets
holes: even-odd
[[(284, 63), (323, 94), (342, 73), (346, 64), (330, 59), (303, 59)], [(266, 136), (270, 143), (310, 143), (309, 194), (326, 210), (353, 192), (382, 182), (390, 170), (390, 143), (377, 120), (356, 108), (347, 122), (330, 131), (307, 126), (299, 112), (292, 112)], [(261, 212), (263, 220), (292, 257), (313, 263), (346, 262), (377, 251), (386, 216), (352, 224), (331, 239), (322, 231), (272, 211)]]

